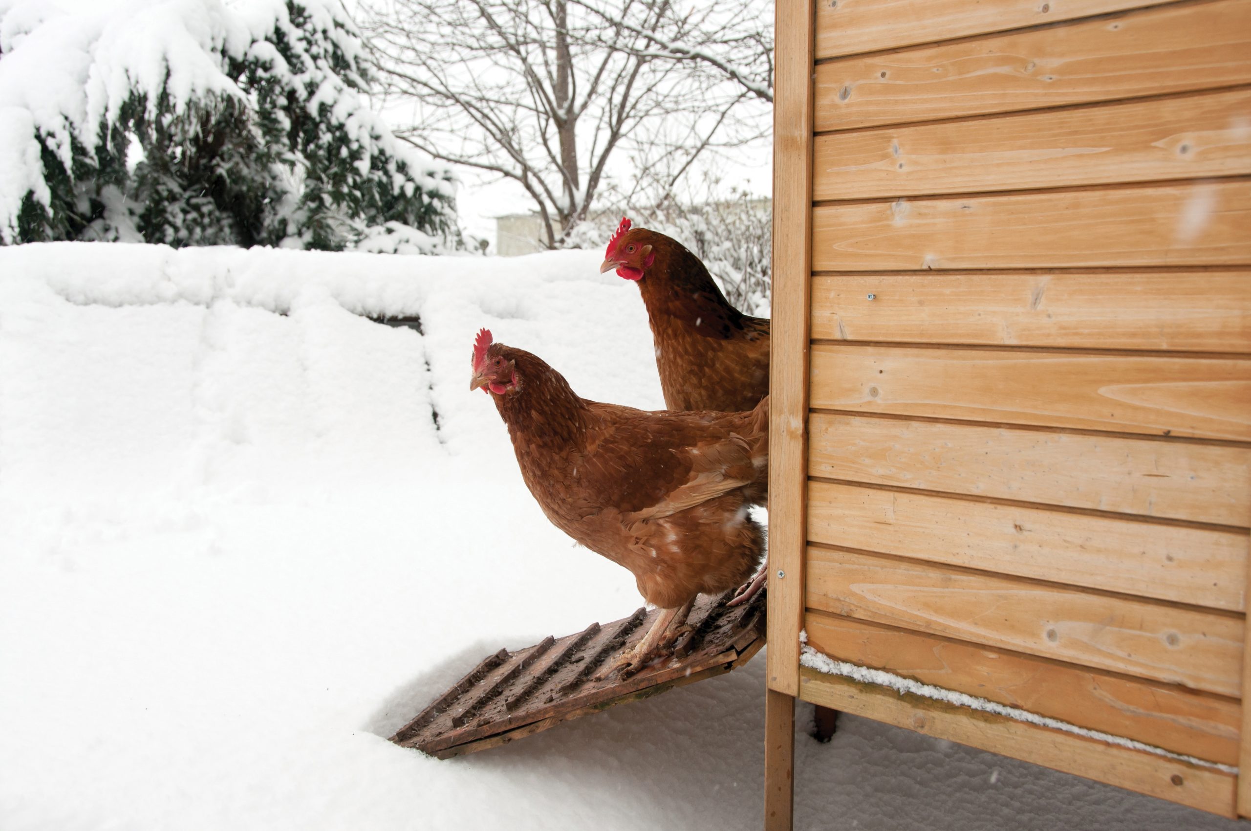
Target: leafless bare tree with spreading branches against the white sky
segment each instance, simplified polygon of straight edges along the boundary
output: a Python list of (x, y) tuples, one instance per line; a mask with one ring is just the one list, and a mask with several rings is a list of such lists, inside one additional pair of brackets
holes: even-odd
[(677, 181), (699, 156), (768, 129), (764, 0), (364, 0), (362, 9), (393, 108), (412, 105), (397, 135), (519, 183), (549, 247), (565, 243), (614, 171), (639, 180), (631, 164), (659, 164)]

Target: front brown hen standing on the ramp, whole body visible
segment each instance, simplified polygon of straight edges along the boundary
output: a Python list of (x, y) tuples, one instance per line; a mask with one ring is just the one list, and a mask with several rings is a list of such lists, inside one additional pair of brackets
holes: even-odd
[[(478, 333), (470, 389), (495, 402), (522, 478), (555, 527), (624, 566), (664, 609), (609, 668), (649, 662), (697, 594), (749, 578), (764, 533), (748, 507), (764, 501), (768, 400), (741, 413), (644, 412), (579, 398), (523, 349)], [(605, 673), (607, 675), (607, 673)]]

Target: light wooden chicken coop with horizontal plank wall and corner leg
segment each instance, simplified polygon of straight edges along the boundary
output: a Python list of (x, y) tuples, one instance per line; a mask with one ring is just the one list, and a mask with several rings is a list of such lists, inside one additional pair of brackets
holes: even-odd
[(1251, 816), (1251, 0), (778, 0), (776, 71), (767, 827), (796, 698)]

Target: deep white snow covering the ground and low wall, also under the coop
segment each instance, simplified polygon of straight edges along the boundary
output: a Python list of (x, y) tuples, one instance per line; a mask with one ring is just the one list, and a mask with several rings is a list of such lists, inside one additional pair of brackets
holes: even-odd
[[(0, 248), (0, 828), (759, 827), (762, 658), (464, 758), (385, 741), (639, 604), (467, 383), (485, 325), (659, 407), (598, 262)], [(858, 718), (797, 742), (799, 828), (1236, 827)]]

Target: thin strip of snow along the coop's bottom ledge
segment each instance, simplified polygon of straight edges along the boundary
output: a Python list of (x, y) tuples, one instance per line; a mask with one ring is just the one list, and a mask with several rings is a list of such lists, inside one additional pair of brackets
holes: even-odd
[(945, 701), (950, 705), (956, 705), (957, 707), (970, 707), (971, 710), (980, 710), (982, 712), (995, 713), (996, 716), (1006, 716), (1015, 721), (1023, 721), (1031, 725), (1038, 725), (1040, 727), (1050, 727), (1051, 730), (1060, 730), (1066, 733), (1073, 733), (1076, 736), (1085, 736), (1086, 738), (1095, 738), (1111, 745), (1118, 745), (1130, 750), (1140, 750), (1147, 753), (1165, 756), (1167, 758), (1176, 758), (1200, 767), (1212, 767), (1225, 771), (1226, 773), (1238, 772), (1238, 768), (1231, 765), (1220, 765), (1217, 762), (1208, 762), (1207, 760), (1197, 758), (1195, 756), (1175, 753), (1162, 747), (1156, 747), (1155, 745), (1146, 745), (1132, 738), (1126, 738), (1125, 736), (1113, 736), (1112, 733), (1105, 733), (1098, 730), (1087, 730), (1067, 721), (1030, 712), (1028, 710), (1008, 707), (998, 703), (997, 701), (991, 701), (990, 698), (971, 696), (956, 690), (947, 690), (946, 687), (936, 687), (931, 683), (921, 683), (919, 681), (904, 678), (894, 675), (893, 672), (886, 672), (884, 670), (874, 670), (857, 663), (848, 663), (847, 661), (838, 661), (837, 658), (832, 658), (828, 655), (807, 646), (807, 641), (808, 633), (806, 631), (801, 631), (799, 642), (803, 646), (799, 647), (799, 663), (811, 670), (816, 670), (817, 672), (853, 678), (854, 681), (861, 681), (863, 683), (876, 683), (878, 686), (889, 687), (899, 695), (922, 696), (934, 701)]

